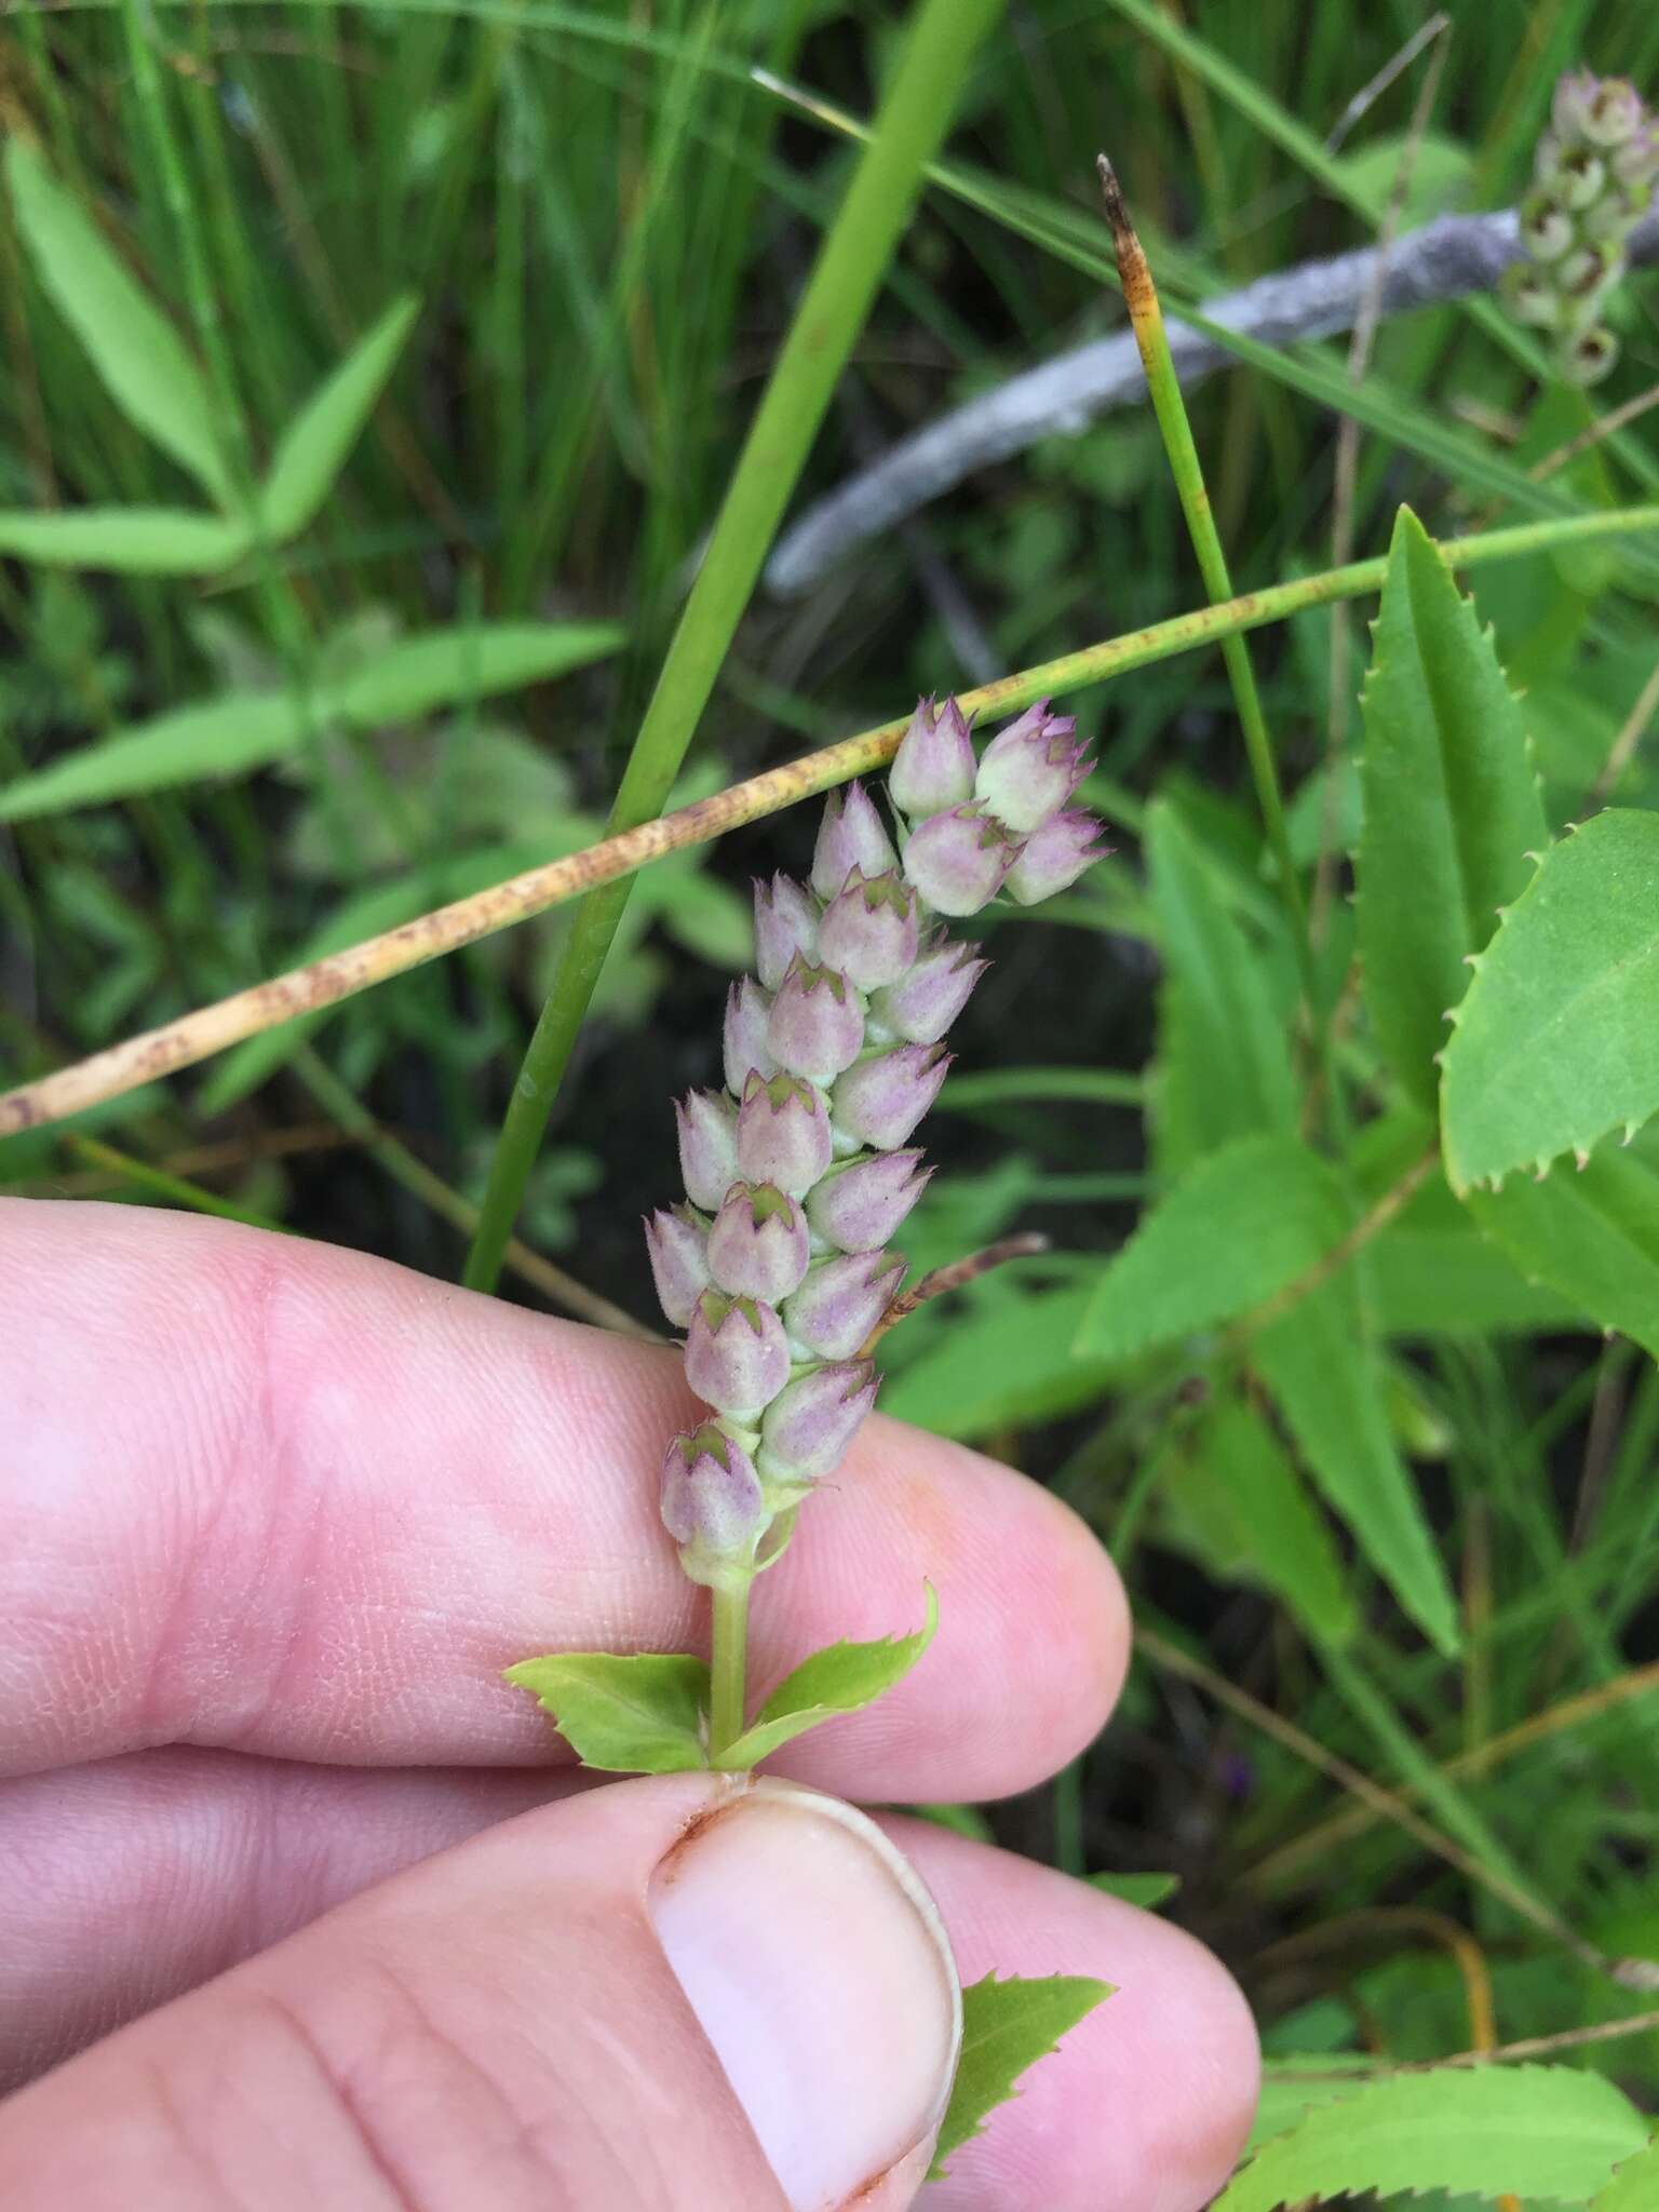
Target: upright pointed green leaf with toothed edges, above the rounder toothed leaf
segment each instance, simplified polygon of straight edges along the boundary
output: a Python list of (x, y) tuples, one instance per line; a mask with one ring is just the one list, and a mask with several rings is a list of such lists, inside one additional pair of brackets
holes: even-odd
[(1400, 509), (1365, 679), (1356, 856), (1365, 1004), (1400, 1082), (1433, 1106), (1467, 958), (1546, 843), (1520, 706), (1440, 549)]

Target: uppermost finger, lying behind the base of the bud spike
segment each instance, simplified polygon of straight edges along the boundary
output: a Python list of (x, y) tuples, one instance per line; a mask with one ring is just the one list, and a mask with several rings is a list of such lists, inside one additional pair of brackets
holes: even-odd
[[(385, 1261), (122, 1206), (0, 1201), (0, 1772), (204, 1743), (568, 1756), (500, 1681), (686, 1650), (657, 1520), (679, 1358)], [(872, 1420), (757, 1597), (754, 1690), (836, 1637), (940, 1630), (781, 1765), (867, 1798), (1022, 1790), (1117, 1694), (1106, 1555), (1046, 1491)]]

